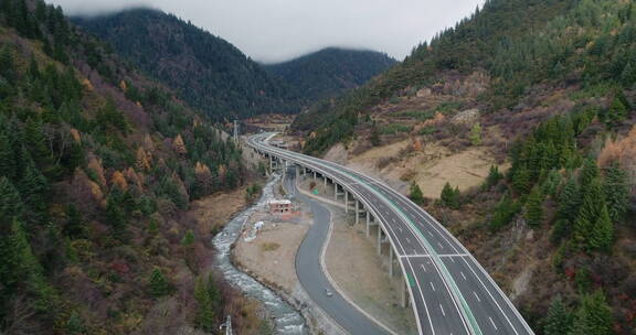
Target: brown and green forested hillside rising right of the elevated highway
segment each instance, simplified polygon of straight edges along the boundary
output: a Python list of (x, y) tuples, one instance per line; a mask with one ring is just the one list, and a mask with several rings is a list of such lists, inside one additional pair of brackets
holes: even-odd
[[(633, 1), (489, 0), (295, 126), (309, 153), (385, 152), (372, 168), (403, 171), (538, 334), (634, 334), (634, 62)], [(466, 152), (500, 168), (425, 198), (442, 173), (421, 170)]]

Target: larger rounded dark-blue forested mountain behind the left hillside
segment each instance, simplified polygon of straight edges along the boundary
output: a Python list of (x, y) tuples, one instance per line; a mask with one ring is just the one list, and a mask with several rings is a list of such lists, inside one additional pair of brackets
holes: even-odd
[(134, 9), (74, 22), (211, 117), (296, 110), (282, 82), (229, 42), (174, 15)]

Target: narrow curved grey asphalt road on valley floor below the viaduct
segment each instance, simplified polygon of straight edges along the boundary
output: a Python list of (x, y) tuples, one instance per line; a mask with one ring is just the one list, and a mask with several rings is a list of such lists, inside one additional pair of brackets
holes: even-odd
[[(314, 215), (314, 225), (309, 228), (296, 253), (296, 274), (300, 284), (311, 300), (349, 334), (389, 334), (375, 322), (360, 313), (329, 283), (320, 266), (320, 256), (329, 234), (331, 214), (319, 202), (298, 193), (295, 182), (295, 172), (288, 172), (285, 179), (287, 193), (289, 196), (309, 204)], [(332, 292), (331, 296), (327, 295), (326, 289)]]

